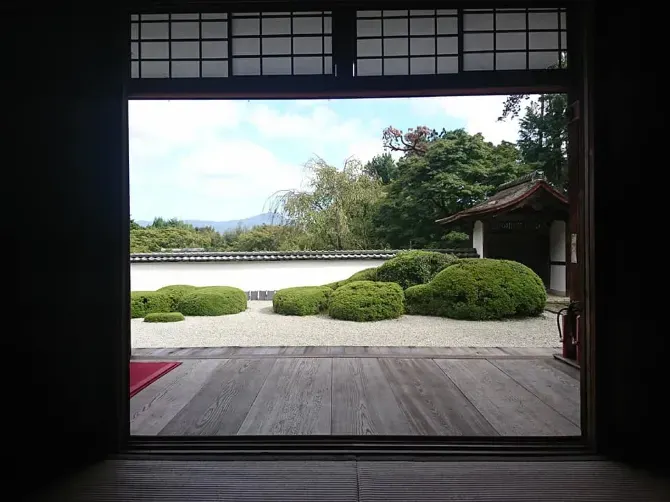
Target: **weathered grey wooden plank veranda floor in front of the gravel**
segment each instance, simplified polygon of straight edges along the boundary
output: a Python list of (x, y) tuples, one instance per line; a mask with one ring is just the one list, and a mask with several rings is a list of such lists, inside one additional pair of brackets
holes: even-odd
[(577, 436), (556, 349), (134, 349), (180, 366), (130, 401), (134, 435)]

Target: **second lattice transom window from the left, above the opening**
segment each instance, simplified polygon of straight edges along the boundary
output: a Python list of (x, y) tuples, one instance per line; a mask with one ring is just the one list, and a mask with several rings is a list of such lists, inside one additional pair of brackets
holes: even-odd
[(232, 14), (232, 74), (333, 73), (330, 12)]

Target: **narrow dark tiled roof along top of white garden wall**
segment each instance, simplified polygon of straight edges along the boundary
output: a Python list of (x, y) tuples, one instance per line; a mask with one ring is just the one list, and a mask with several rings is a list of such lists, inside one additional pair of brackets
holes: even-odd
[[(463, 249), (431, 249), (440, 253), (453, 253), (462, 258), (477, 258), (477, 251)], [(150, 262), (234, 262), (234, 261), (294, 261), (294, 260), (388, 260), (398, 254), (397, 249), (354, 251), (255, 251), (215, 252), (177, 251), (161, 253), (133, 253), (131, 263)]]

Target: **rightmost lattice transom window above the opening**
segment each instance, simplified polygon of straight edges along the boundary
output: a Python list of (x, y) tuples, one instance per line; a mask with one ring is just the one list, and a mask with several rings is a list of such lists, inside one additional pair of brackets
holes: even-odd
[(463, 11), (463, 70), (541, 70), (566, 66), (564, 9)]

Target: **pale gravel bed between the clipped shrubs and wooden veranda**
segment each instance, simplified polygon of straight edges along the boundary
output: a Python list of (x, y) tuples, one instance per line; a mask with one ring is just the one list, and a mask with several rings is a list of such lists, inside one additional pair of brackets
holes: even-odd
[(174, 323), (131, 322), (133, 348), (259, 346), (557, 347), (555, 315), (508, 321), (457, 321), (403, 316), (378, 322), (338, 321), (325, 315), (272, 312), (272, 302), (250, 301), (245, 312), (187, 317)]

